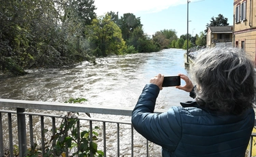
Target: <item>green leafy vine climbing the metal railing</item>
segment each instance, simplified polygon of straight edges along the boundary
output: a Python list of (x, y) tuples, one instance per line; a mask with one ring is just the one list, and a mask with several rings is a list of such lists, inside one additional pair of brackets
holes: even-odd
[[(86, 99), (69, 99), (66, 103), (81, 103), (81, 101), (87, 101)], [(78, 157), (89, 157), (89, 156), (104, 156), (104, 152), (98, 150), (98, 145), (95, 141), (98, 140), (98, 133), (95, 131), (100, 129), (96, 126), (92, 130), (92, 137), (90, 137), (90, 130), (83, 130), (80, 135), (78, 132), (77, 125), (79, 120), (77, 116), (79, 113), (69, 112), (65, 118), (63, 118), (61, 125), (56, 129), (55, 135), (51, 137), (49, 143), (46, 143), (46, 149), (44, 151), (44, 156), (78, 156)], [(45, 130), (48, 132), (48, 130)], [(27, 157), (38, 157), (42, 156), (42, 150), (37, 150), (35, 144), (27, 151)], [(72, 150), (68, 154), (68, 150)]]

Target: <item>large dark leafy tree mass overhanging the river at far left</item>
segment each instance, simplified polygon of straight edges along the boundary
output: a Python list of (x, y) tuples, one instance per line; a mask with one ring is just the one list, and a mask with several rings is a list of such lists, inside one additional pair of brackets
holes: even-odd
[(76, 2), (1, 1), (0, 69), (20, 75), (25, 73), (23, 69), (61, 67), (85, 60), (86, 49), (81, 50), (78, 43), (85, 28), (83, 19), (90, 20), (93, 13), (82, 14), (87, 7), (80, 7), (79, 17)]

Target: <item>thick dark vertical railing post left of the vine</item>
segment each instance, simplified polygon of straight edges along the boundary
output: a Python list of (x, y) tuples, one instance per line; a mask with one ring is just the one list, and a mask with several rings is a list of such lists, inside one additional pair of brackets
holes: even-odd
[(18, 153), (20, 157), (24, 157), (27, 151), (27, 135), (26, 135), (26, 119), (24, 108), (17, 108), (18, 122)]

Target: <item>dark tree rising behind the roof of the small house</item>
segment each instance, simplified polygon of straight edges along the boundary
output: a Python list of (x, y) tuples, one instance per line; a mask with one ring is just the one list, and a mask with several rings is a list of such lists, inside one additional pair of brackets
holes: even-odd
[(223, 14), (218, 14), (218, 17), (212, 17), (210, 20), (210, 23), (206, 24), (205, 34), (208, 32), (208, 27), (223, 27), (223, 26), (229, 26), (229, 23), (227, 22), (228, 18), (225, 18)]

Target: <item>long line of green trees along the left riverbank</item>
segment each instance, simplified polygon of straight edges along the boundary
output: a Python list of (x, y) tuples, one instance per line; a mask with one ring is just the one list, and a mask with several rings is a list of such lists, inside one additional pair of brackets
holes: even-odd
[[(186, 48), (186, 35), (173, 29), (147, 35), (132, 13), (98, 16), (94, 0), (1, 0), (0, 71), (14, 75), (25, 69), (72, 66), (110, 54), (157, 52)], [(223, 18), (213, 22), (223, 22)], [(224, 18), (225, 22), (225, 18)], [(189, 47), (204, 40), (189, 34)]]

